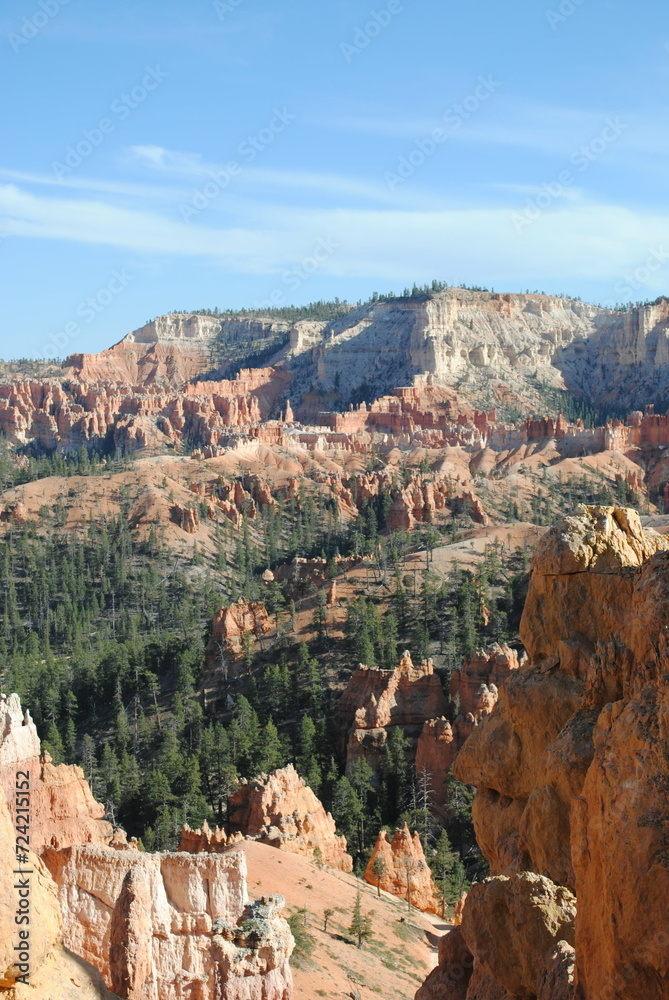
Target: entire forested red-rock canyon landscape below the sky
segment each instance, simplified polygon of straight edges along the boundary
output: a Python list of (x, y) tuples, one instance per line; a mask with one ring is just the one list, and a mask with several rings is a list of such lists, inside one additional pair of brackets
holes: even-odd
[[(38, 699), (56, 761), (84, 764), (91, 719), (98, 741), (85, 773), (54, 762), (17, 695), (0, 700), (8, 843), (17, 770), (31, 780), (33, 986), (53, 1000), (291, 1000), (355, 996), (361, 982), (398, 1000), (666, 995), (668, 330), (666, 299), (617, 312), (446, 289), (330, 322), (170, 314), (60, 368), (3, 369), (7, 580), (42, 580), (28, 541), (52, 522), (61, 554), (87, 533), (102, 546), (93, 526), (114, 526), (118, 579), (146, 560), (136, 593), (121, 608), (114, 596), (108, 622), (91, 613), (76, 648), (60, 592), (46, 625), (5, 598), (9, 677), (16, 634), (34, 633), (32, 679), (9, 690)], [(592, 492), (615, 505), (579, 505)], [(92, 588), (106, 569), (89, 569)], [(159, 573), (181, 590), (151, 591)], [(188, 619), (196, 584), (202, 613)], [(363, 614), (378, 615), (366, 647)], [(468, 615), (480, 622), (463, 642)], [(116, 643), (117, 659), (103, 656), (116, 688), (105, 674), (81, 684), (98, 632)], [(57, 674), (60, 694), (45, 695)], [(75, 681), (86, 708), (66, 751)], [(138, 784), (144, 825), (128, 828), (160, 850), (109, 821), (102, 776), (115, 741), (118, 763), (144, 739), (147, 768), (160, 752), (166, 770), (195, 774), (192, 788)], [(384, 769), (399, 743), (411, 791), (392, 813)], [(373, 828), (341, 812), (361, 774)], [(457, 782), (476, 789), (489, 874), (472, 865), (431, 957), (447, 928), (429, 864)], [(163, 796), (153, 827), (146, 787)], [(421, 789), (433, 827), (419, 835)], [(358, 891), (373, 924), (360, 954)], [(300, 927), (315, 959), (304, 939), (294, 952)], [(22, 1000), (12, 932), (3, 895), (0, 990)]]

